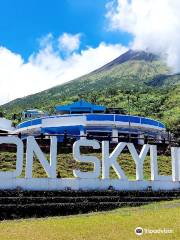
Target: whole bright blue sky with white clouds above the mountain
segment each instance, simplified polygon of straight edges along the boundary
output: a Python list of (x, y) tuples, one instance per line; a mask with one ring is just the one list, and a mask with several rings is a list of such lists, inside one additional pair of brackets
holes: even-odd
[(179, 0), (1, 0), (0, 104), (87, 74), (128, 49), (180, 71)]

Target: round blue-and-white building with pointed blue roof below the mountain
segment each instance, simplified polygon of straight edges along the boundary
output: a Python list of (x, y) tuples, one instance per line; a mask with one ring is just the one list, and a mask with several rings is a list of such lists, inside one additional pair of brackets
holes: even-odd
[[(55, 109), (57, 114), (53, 116), (47, 116), (38, 110), (27, 110), (26, 114), (30, 113), (31, 118), (26, 115), (26, 121), (17, 125), (14, 132), (21, 133), (24, 138), (31, 134), (55, 134), (58, 135), (59, 142), (63, 142), (65, 138), (88, 138), (117, 143), (128, 141), (128, 138), (132, 137), (137, 143), (143, 144), (146, 137), (162, 141), (167, 136), (165, 125), (157, 120), (114, 113), (105, 106), (82, 99), (68, 105), (56, 106)], [(38, 113), (40, 116), (34, 117), (38, 116)], [(139, 140), (136, 140), (137, 138)]]

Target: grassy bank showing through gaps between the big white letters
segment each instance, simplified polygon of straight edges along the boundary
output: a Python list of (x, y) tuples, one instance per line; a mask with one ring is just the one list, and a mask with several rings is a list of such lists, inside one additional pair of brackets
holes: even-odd
[[(91, 153), (101, 159), (100, 153)], [(89, 155), (89, 154), (88, 154)], [(24, 156), (25, 157), (25, 156)], [(47, 156), (48, 157), (48, 156)], [(125, 174), (129, 179), (135, 179), (135, 163), (128, 153), (123, 153), (118, 157), (118, 162)], [(0, 153), (0, 169), (2, 171), (15, 169), (16, 155), (15, 153), (1, 152)], [(25, 159), (24, 159), (25, 165)], [(158, 157), (159, 174), (171, 175), (171, 158), (168, 156), (160, 155)], [(60, 172), (62, 178), (73, 177), (73, 169), (80, 168), (83, 171), (90, 171), (92, 169), (91, 164), (77, 163), (71, 153), (58, 154), (57, 158), (57, 172)], [(22, 176), (24, 176), (25, 166), (23, 168)], [(40, 165), (37, 159), (34, 160), (33, 165), (33, 176), (34, 177), (46, 177), (46, 173), (43, 167)], [(146, 157), (144, 162), (144, 177), (150, 179), (150, 159)], [(117, 178), (116, 173), (111, 169), (111, 178)]]

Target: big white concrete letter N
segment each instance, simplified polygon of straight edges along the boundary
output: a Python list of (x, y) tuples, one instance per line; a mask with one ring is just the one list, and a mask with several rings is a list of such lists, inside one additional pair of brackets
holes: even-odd
[(26, 150), (26, 178), (32, 178), (32, 165), (34, 154), (38, 157), (41, 165), (49, 178), (56, 178), (57, 138), (51, 137), (50, 162), (47, 161), (34, 137), (27, 138)]

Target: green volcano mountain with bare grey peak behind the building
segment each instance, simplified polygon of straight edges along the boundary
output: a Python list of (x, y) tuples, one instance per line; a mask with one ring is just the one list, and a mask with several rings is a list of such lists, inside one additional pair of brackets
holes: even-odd
[(180, 74), (172, 75), (156, 55), (132, 50), (88, 75), (1, 108), (9, 117), (34, 107), (53, 113), (57, 104), (84, 98), (127, 112), (128, 96), (132, 114), (159, 119), (171, 129), (180, 127)]

